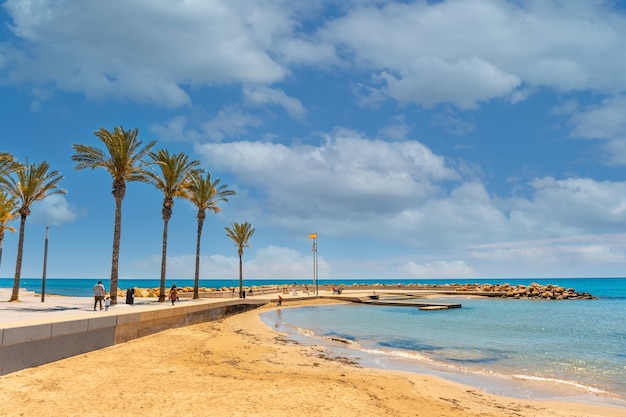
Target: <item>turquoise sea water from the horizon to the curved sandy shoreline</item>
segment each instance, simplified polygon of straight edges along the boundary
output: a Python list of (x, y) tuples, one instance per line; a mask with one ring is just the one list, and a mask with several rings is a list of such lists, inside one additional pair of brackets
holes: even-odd
[[(108, 289), (108, 280), (103, 280)], [(193, 285), (168, 280), (166, 286)], [(46, 294), (91, 296), (97, 279), (47, 279)], [(293, 280), (245, 280), (282, 285)], [(311, 284), (310, 281), (298, 281)], [(589, 292), (597, 300), (455, 298), (462, 308), (358, 304), (283, 308), (263, 314), (269, 326), (301, 343), (325, 346), (363, 366), (429, 373), (521, 398), (565, 399), (626, 409), (626, 279), (320, 280), (353, 283), (554, 284)], [(22, 279), (41, 291), (41, 279)], [(12, 279), (1, 278), (0, 288)], [(200, 286), (236, 287), (238, 280), (201, 280)], [(120, 280), (122, 289), (158, 287), (159, 280)], [(333, 339), (344, 339), (345, 344)]]

